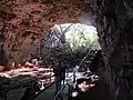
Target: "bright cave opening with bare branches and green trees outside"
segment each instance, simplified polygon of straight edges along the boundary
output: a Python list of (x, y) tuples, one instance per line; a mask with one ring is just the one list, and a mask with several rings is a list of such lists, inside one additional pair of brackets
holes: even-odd
[(57, 60), (65, 60), (75, 67), (89, 50), (101, 50), (96, 28), (82, 23), (54, 24), (51, 31), (44, 33), (40, 57), (45, 64)]

